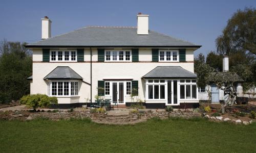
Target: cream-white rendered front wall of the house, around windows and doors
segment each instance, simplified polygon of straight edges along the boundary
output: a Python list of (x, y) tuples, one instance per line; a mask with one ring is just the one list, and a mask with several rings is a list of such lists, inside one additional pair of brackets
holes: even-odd
[[(119, 48), (121, 49), (121, 48)], [(31, 94), (41, 93), (47, 94), (47, 82), (43, 80), (57, 66), (69, 66), (76, 71), (83, 81), (90, 83), (90, 49), (84, 49), (84, 61), (86, 62), (44, 62), (42, 61), (42, 49), (33, 49), (33, 82), (31, 83)], [(118, 49), (116, 49), (118, 50)], [(141, 77), (157, 66), (181, 66), (184, 69), (194, 72), (194, 63), (186, 62), (151, 62), (152, 49), (140, 48), (139, 60), (144, 62), (96, 62), (98, 60), (97, 49), (92, 49), (92, 98), (97, 94), (98, 80), (103, 78), (133, 78), (139, 81), (139, 98), (144, 99), (144, 83)], [(186, 55), (187, 60), (193, 61), (192, 50)], [(82, 83), (79, 89), (79, 102), (84, 103), (86, 98), (90, 98), (90, 85)], [(68, 100), (67, 100), (68, 99)], [(77, 101), (77, 99), (75, 99)], [(72, 99), (59, 98), (59, 103), (68, 103), (74, 101)], [(126, 101), (130, 102), (131, 98), (126, 97)], [(72, 102), (69, 102), (72, 103)]]

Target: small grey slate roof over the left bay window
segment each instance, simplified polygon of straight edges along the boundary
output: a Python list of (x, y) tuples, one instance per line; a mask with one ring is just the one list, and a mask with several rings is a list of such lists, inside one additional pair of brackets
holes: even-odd
[(71, 79), (71, 80), (82, 80), (82, 77), (77, 74), (73, 69), (69, 66), (57, 66), (54, 70), (52, 70), (44, 80), (64, 80), (64, 79)]

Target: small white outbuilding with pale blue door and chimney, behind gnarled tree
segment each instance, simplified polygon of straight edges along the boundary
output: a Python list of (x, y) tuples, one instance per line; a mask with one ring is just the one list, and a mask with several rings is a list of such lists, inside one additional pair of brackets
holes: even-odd
[[(219, 72), (219, 74), (225, 75), (225, 71), (229, 70), (229, 62), (228, 62), (228, 57), (224, 56), (222, 60), (222, 65), (223, 65), (223, 72)], [(216, 73), (212, 74), (212, 78), (214, 77)], [(238, 97), (242, 97), (243, 95), (243, 86), (242, 82), (243, 79), (239, 77), (239, 75), (235, 74), (233, 77), (233, 82), (234, 82), (234, 90), (237, 93)], [(211, 97), (209, 98), (208, 91), (210, 91)], [(217, 88), (217, 86), (212, 82), (210, 85), (207, 85), (205, 88), (198, 88), (198, 96), (199, 100), (210, 100), (211, 103), (220, 103), (220, 101), (224, 100), (224, 95), (229, 92), (229, 89), (226, 89), (225, 91)]]

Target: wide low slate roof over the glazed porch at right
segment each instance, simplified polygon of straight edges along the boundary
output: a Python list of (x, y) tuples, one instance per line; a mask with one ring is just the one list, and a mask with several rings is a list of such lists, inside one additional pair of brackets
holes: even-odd
[(197, 74), (192, 73), (180, 66), (157, 66), (142, 78), (197, 78)]

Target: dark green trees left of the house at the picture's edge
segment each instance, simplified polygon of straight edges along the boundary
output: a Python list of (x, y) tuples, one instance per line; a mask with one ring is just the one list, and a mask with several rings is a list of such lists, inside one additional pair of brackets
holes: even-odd
[(32, 57), (25, 44), (6, 40), (0, 44), (0, 103), (18, 100), (30, 91)]

